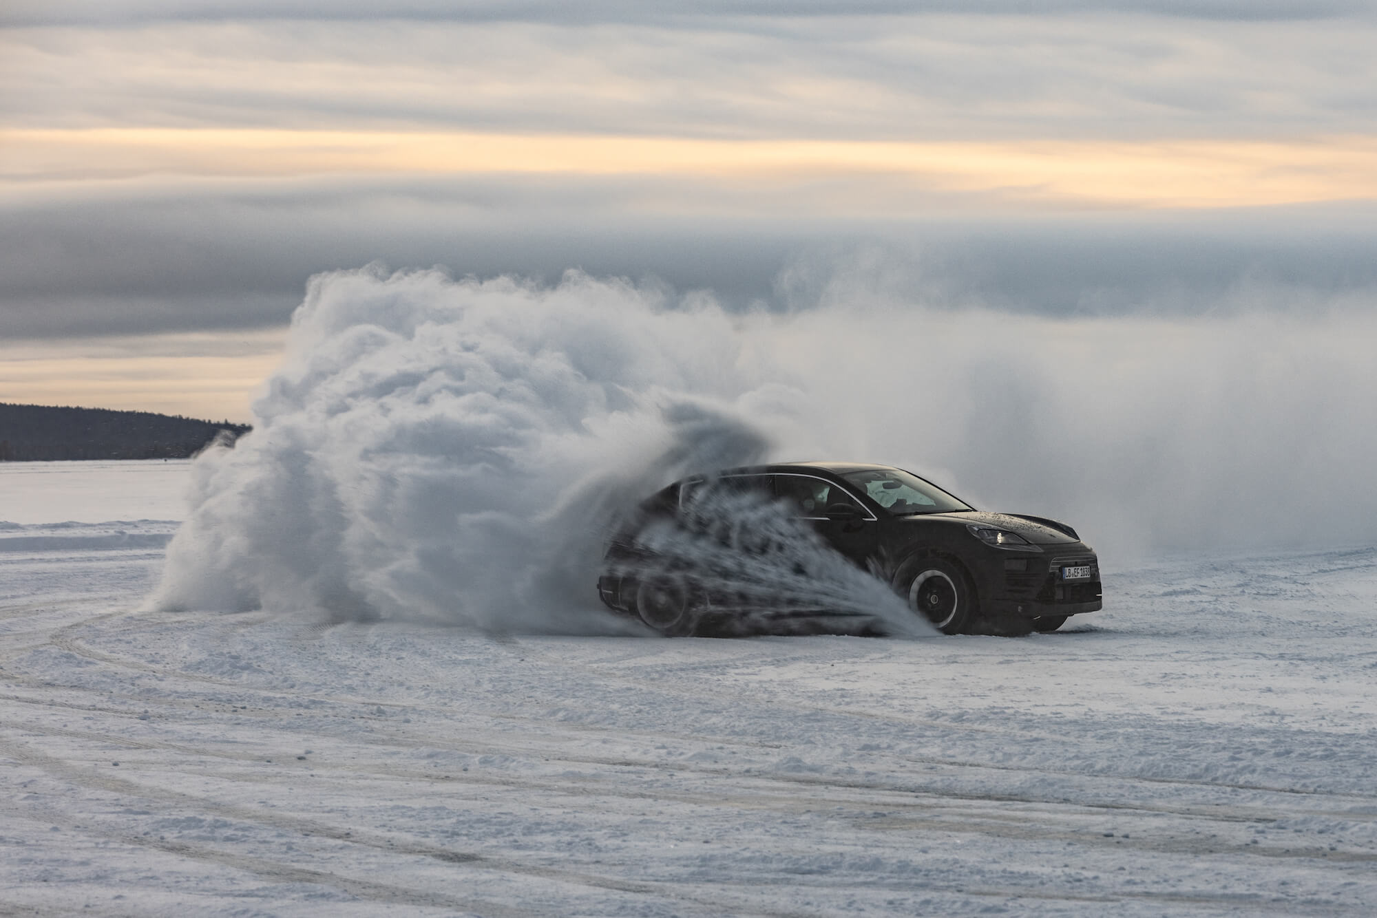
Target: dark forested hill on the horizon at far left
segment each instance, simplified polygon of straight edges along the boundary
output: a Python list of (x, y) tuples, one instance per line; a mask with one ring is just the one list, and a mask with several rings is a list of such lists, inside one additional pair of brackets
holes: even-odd
[(0, 462), (186, 458), (219, 431), (238, 438), (249, 427), (153, 412), (0, 402)]

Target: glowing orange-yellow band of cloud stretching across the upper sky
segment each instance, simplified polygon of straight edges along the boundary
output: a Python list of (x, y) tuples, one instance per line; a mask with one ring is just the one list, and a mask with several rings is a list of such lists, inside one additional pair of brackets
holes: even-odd
[[(1304, 140), (829, 142), (277, 129), (0, 131), (7, 182), (154, 175), (661, 175), (772, 186), (847, 178), (880, 194), (978, 193), (1024, 202), (1212, 208), (1377, 198), (1377, 138)], [(884, 191), (894, 190), (896, 198)], [(902, 204), (898, 206), (903, 206)], [(819, 197), (817, 211), (845, 208)], [(898, 213), (895, 216), (903, 216)]]

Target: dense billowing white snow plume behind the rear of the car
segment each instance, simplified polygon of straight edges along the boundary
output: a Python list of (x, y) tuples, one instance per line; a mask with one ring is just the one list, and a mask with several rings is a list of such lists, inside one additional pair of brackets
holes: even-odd
[(194, 464), (156, 606), (627, 628), (595, 592), (610, 527), (763, 458), (744, 418), (789, 395), (745, 369), (722, 310), (675, 307), (580, 274), (314, 278), (253, 432)]

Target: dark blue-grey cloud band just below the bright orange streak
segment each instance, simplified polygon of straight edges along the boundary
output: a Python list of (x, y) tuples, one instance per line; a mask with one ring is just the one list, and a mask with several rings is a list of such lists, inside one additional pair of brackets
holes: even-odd
[[(713, 194), (493, 178), (59, 187), (0, 208), (0, 337), (281, 326), (307, 277), (373, 259), (654, 277), (737, 311), (812, 308), (841, 279), (892, 303), (1044, 315), (1322, 311), (1377, 288), (1370, 206), (792, 220)], [(704, 209), (651, 206), (675, 198)]]

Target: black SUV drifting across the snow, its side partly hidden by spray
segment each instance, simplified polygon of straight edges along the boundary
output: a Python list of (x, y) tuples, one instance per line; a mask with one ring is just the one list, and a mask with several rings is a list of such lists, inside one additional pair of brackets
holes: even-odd
[[(1099, 560), (1070, 526), (978, 511), (912, 472), (856, 462), (735, 468), (660, 490), (613, 538), (598, 581), (603, 603), (666, 634), (695, 633), (704, 612), (730, 611), (731, 597), (711, 586), (715, 571), (686, 570), (693, 564), (666, 559), (654, 540), (643, 538), (654, 527), (706, 533), (702, 517), (711, 502), (702, 498), (723, 491), (782, 504), (947, 634), (1052, 632), (1070, 615), (1102, 608)], [(749, 564), (749, 549), (742, 551), (748, 556), (739, 560)], [(722, 566), (723, 556), (716, 557), (709, 567)], [(737, 564), (735, 555), (727, 557)]]

